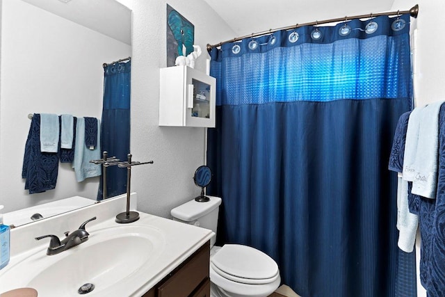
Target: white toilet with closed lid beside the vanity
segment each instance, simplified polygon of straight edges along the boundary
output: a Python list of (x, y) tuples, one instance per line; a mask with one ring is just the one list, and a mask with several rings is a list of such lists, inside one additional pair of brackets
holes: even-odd
[[(173, 220), (216, 233), (221, 198), (207, 197), (209, 202), (191, 200), (172, 209)], [(220, 248), (215, 240), (210, 241), (211, 297), (266, 297), (280, 286), (277, 263), (264, 252), (238, 244)]]

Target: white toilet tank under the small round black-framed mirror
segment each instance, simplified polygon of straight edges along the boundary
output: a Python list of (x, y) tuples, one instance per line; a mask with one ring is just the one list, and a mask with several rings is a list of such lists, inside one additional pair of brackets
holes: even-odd
[[(170, 214), (172, 214), (173, 220), (210, 229), (216, 234), (221, 198), (208, 195), (207, 197), (210, 198), (208, 202), (197, 202), (193, 199), (172, 209)], [(215, 241), (216, 236), (213, 236), (210, 240), (211, 247)]]

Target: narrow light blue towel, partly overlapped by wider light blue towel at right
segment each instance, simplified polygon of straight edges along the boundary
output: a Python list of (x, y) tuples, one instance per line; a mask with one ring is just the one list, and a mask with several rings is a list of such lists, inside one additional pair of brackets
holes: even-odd
[(422, 107), (416, 107), (410, 114), (406, 131), (405, 154), (403, 156), (403, 180), (412, 182), (416, 175), (414, 168), (416, 161), (417, 143), (419, 140), (419, 125)]

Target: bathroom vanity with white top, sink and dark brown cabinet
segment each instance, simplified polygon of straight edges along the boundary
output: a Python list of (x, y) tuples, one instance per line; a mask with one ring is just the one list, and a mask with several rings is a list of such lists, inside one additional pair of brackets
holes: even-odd
[[(131, 194), (135, 209), (136, 193)], [(16, 227), (11, 230), (10, 263), (0, 271), (0, 294), (31, 287), (39, 296), (209, 296), (211, 230), (140, 213), (129, 224), (115, 223), (125, 209), (125, 196)], [(88, 240), (47, 255), (49, 239), (60, 239), (86, 220)], [(87, 286), (88, 287), (88, 286)]]

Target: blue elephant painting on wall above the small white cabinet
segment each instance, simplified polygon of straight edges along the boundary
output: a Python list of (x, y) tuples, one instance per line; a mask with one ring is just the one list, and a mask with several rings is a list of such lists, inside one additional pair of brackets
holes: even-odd
[(195, 26), (167, 4), (167, 67), (175, 66), (177, 56), (193, 52)]

